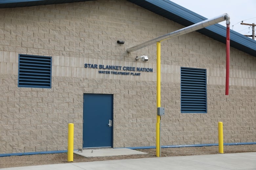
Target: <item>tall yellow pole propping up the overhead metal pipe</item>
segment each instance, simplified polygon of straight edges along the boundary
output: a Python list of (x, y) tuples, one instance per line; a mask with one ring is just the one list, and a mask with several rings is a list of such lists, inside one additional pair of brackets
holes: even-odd
[[(161, 107), (161, 42), (157, 42), (157, 108)], [(156, 123), (156, 156), (160, 157), (160, 115)]]

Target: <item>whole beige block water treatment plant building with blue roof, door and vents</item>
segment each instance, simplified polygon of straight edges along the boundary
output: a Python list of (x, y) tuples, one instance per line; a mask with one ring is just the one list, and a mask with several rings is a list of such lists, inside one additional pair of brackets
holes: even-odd
[[(0, 2), (0, 154), (66, 150), (68, 123), (74, 148), (154, 146), (156, 45), (126, 49), (206, 18), (165, 0), (54, 2)], [(224, 143), (255, 143), (256, 41), (230, 37), (229, 95), (224, 26), (161, 43), (162, 145), (216, 144), (219, 121)]]

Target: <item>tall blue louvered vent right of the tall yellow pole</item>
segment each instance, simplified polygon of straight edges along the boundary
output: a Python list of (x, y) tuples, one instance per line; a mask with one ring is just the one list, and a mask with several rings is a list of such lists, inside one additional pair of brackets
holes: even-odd
[(206, 69), (181, 67), (181, 113), (207, 113)]

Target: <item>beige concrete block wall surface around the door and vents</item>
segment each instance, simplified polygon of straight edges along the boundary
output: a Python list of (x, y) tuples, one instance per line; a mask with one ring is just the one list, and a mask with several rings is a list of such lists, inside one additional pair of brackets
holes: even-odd
[[(114, 147), (155, 145), (156, 46), (128, 47), (183, 26), (125, 0), (0, 9), (0, 154), (82, 146), (83, 94), (114, 94)], [(117, 40), (125, 41), (117, 44)], [(255, 57), (197, 32), (161, 43), (162, 144), (255, 142)], [(18, 54), (52, 57), (52, 88), (18, 88)], [(148, 55), (149, 61), (136, 61)], [(85, 63), (153, 68), (140, 76), (99, 74)], [(181, 114), (180, 67), (207, 69), (207, 113)]]

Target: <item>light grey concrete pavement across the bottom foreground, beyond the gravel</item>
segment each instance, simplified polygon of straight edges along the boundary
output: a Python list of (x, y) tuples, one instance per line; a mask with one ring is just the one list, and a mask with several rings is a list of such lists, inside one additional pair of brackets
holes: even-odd
[(1, 170), (255, 170), (256, 152), (141, 158), (3, 168)]

